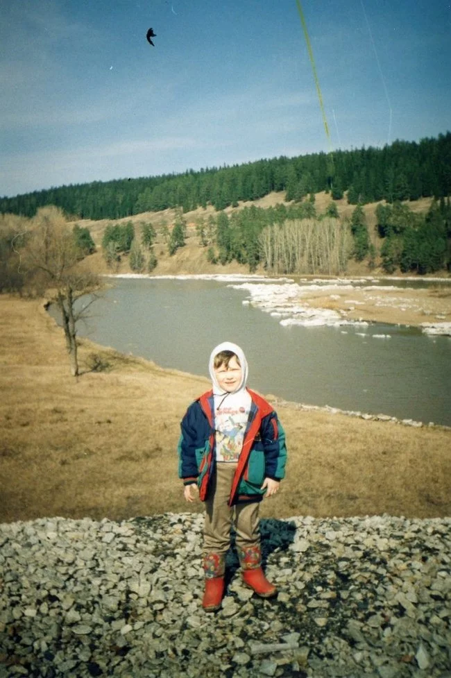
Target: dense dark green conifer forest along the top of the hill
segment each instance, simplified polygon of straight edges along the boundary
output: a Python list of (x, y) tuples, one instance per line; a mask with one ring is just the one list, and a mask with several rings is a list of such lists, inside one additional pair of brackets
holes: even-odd
[[(332, 167), (333, 165), (333, 167)], [(383, 149), (335, 151), (297, 158), (258, 160), (234, 167), (212, 167), (176, 175), (93, 181), (0, 198), (0, 212), (33, 217), (39, 207), (56, 205), (71, 220), (124, 219), (144, 211), (180, 207), (184, 212), (212, 204), (216, 210), (255, 200), (273, 190), (287, 200), (330, 189), (350, 204), (440, 198), (451, 194), (451, 133), (420, 142), (395, 141)]]

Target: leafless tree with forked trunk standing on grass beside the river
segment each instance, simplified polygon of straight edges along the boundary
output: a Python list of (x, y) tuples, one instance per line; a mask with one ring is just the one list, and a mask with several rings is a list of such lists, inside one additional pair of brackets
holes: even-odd
[[(76, 325), (96, 299), (100, 279), (83, 262), (71, 228), (58, 207), (41, 207), (31, 220), (24, 248), (24, 265), (31, 285), (58, 306), (71, 373), (77, 376)], [(88, 294), (91, 298), (85, 305), (76, 304), (81, 296)]]

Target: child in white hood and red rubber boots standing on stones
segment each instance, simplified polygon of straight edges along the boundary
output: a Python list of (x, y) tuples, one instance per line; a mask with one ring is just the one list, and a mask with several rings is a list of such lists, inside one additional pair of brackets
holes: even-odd
[(262, 598), (277, 593), (262, 570), (258, 513), (263, 496), (278, 492), (287, 450), (273, 407), (246, 388), (241, 348), (219, 344), (209, 368), (213, 388), (188, 407), (178, 455), (185, 499), (192, 502), (198, 489), (205, 502), (202, 605), (211, 612), (221, 607), (232, 522), (244, 583)]

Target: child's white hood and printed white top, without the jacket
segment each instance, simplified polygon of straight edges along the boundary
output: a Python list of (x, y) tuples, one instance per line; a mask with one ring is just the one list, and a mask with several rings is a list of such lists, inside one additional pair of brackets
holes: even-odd
[[(214, 357), (223, 350), (237, 355), (241, 366), (241, 382), (235, 391), (224, 391), (214, 373)], [(250, 412), (250, 393), (246, 389), (248, 362), (242, 348), (230, 341), (223, 341), (210, 355), (208, 364), (214, 394), (214, 429), (216, 432), (216, 460), (237, 461), (243, 447), (244, 432)]]

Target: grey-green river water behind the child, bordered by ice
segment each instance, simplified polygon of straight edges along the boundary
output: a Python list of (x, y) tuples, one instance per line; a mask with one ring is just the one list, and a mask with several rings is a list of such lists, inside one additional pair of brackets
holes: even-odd
[(212, 348), (234, 341), (261, 393), (451, 425), (450, 337), (380, 324), (284, 327), (248, 298), (216, 280), (117, 279), (79, 334), (205, 376)]

